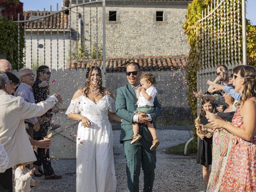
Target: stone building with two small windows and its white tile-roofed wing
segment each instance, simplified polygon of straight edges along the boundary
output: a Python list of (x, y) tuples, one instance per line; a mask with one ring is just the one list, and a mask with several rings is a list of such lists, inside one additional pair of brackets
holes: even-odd
[[(188, 54), (189, 46), (182, 28), (188, 2), (191, 1), (106, 0), (106, 57)], [(72, 5), (74, 4), (76, 0), (72, 1)], [(70, 0), (65, 0), (65, 7), (68, 6)], [(39, 14), (34, 11), (31, 15), (31, 12), (25, 12), (27, 20), (40, 18), (44, 14), (42, 11)], [(46, 12), (47, 14), (50, 12)], [(71, 20), (69, 20), (70, 15)], [(76, 20), (77, 16), (78, 20)], [(96, 28), (97, 23), (98, 28)], [(37, 25), (39, 25), (38, 38)], [(70, 63), (70, 52), (72, 58), (76, 58), (77, 48), (80, 49), (83, 42), (85, 50), (90, 52), (98, 37), (98, 48), (102, 48), (102, 5), (98, 4), (97, 10), (96, 4), (92, 4), (84, 6), (84, 9), (80, 6), (78, 9), (72, 8), (71, 12), (67, 10), (65, 14), (62, 12), (54, 15), (52, 20), (46, 19), (45, 29), (44, 32), (43, 20), (26, 23), (26, 65), (35, 68), (37, 64), (46, 63), (55, 69), (57, 65), (58, 68), (63, 68), (64, 63)]]

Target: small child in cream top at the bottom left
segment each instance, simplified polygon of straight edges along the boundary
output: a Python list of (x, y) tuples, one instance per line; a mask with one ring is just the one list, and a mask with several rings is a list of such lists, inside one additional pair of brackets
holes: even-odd
[(32, 179), (32, 174), (36, 168), (29, 170), (26, 165), (29, 163), (21, 163), (17, 165), (15, 170), (15, 191), (16, 192), (29, 192), (31, 191), (30, 186), (38, 186), (39, 181)]

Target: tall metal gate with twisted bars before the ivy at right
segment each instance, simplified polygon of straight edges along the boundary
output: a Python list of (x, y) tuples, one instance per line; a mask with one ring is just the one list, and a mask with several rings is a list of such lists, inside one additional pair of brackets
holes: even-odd
[(246, 65), (245, 0), (213, 0), (198, 20), (197, 33), (197, 90), (206, 92), (207, 80), (216, 78), (217, 65), (229, 70)]

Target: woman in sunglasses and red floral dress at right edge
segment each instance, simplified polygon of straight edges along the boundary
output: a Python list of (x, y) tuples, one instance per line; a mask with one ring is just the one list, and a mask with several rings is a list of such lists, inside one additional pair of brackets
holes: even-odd
[(232, 124), (221, 118), (209, 120), (213, 128), (234, 134), (220, 192), (256, 191), (256, 68), (242, 66), (234, 80), (241, 94)]

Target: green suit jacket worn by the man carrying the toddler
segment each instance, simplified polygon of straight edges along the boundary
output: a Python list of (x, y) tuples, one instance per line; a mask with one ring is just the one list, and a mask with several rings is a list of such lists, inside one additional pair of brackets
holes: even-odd
[[(132, 140), (132, 118), (134, 116), (134, 111), (137, 108), (137, 98), (134, 90), (130, 84), (120, 87), (117, 89), (116, 95), (116, 114), (122, 118), (121, 123), (121, 135), (120, 142), (126, 140)], [(162, 115), (162, 106), (158, 102), (158, 99), (155, 97), (154, 100), (154, 111), (150, 114), (154, 122), (154, 128), (156, 128), (155, 119)], [(152, 142), (153, 138), (146, 126), (146, 124), (139, 124), (140, 130), (139, 133), (143, 132), (143, 136), (146, 141)]]

